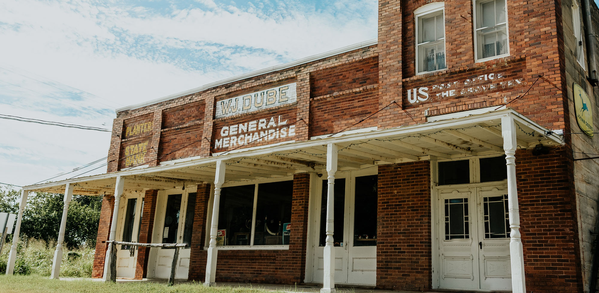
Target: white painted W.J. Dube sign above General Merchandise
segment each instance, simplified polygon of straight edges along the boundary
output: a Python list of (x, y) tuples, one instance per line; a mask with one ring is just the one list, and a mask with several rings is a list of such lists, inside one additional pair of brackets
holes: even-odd
[(256, 91), (243, 96), (231, 97), (216, 102), (214, 117), (223, 118), (258, 110), (289, 105), (297, 100), (296, 84), (285, 84), (268, 90)]

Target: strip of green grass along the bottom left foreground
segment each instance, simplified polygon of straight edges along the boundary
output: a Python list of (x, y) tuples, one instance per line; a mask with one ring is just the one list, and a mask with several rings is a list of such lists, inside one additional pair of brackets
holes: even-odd
[(0, 276), (0, 291), (6, 293), (71, 293), (71, 292), (105, 292), (105, 293), (147, 293), (147, 292), (193, 292), (193, 293), (265, 293), (262, 289), (251, 287), (217, 286), (206, 288), (201, 283), (179, 283), (167, 286), (166, 283), (154, 282), (92, 282), (81, 280), (51, 280), (37, 275)]

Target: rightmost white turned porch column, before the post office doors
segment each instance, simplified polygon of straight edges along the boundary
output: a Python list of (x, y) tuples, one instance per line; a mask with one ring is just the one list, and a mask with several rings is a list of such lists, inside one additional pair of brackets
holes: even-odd
[(526, 293), (524, 277), (524, 251), (520, 236), (518, 187), (516, 186), (516, 127), (512, 117), (501, 118), (503, 149), (507, 164), (507, 206), (510, 218), (510, 259), (512, 261), (512, 292)]

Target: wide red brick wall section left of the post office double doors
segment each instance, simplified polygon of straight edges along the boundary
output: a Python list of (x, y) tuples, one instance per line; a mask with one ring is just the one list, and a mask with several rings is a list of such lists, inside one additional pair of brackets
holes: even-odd
[(379, 166), (377, 288), (431, 288), (430, 174), (429, 161)]

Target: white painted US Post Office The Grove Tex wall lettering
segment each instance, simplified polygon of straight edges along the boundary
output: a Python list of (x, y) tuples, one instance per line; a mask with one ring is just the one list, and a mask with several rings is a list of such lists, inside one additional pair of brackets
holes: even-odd
[(479, 94), (485, 91), (523, 86), (525, 84), (526, 81), (524, 81), (524, 78), (507, 80), (506, 74), (492, 72), (451, 83), (409, 88), (407, 90), (407, 101), (412, 104), (420, 103), (446, 97), (468, 96), (470, 94)]

